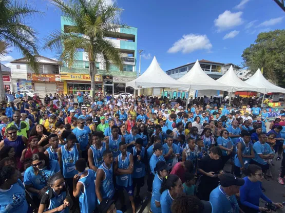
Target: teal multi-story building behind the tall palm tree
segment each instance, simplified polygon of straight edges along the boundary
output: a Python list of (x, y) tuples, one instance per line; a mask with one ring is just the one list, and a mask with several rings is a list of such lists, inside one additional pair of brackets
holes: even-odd
[[(68, 26), (72, 26), (65, 16), (61, 16), (61, 29), (65, 31)], [(100, 57), (96, 59), (96, 67), (98, 69), (95, 76), (96, 91), (103, 91), (104, 94), (114, 94), (125, 91), (125, 83), (137, 78), (137, 34), (138, 29), (135, 27), (118, 28), (118, 33), (113, 36), (112, 33), (107, 35), (105, 39), (111, 41), (116, 48), (120, 49), (122, 60), (124, 61), (123, 70), (111, 65), (110, 71), (107, 73), (104, 63), (100, 61)], [(76, 94), (77, 91), (89, 91), (91, 89), (89, 76), (88, 53), (84, 50), (77, 52), (77, 61), (75, 61), (71, 69), (61, 67), (61, 79), (64, 83), (64, 93)], [(132, 88), (127, 88), (127, 92), (133, 93)]]

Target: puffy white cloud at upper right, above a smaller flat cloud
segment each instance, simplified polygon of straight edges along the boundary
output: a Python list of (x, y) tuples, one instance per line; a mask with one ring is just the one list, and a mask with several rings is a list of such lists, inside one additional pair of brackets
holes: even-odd
[(242, 12), (232, 13), (230, 10), (221, 13), (219, 17), (214, 20), (218, 32), (241, 25), (243, 23), (241, 15)]

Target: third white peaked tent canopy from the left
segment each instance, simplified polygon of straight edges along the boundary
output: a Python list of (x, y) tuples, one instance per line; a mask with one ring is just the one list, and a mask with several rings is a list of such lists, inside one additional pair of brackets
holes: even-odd
[(263, 89), (256, 88), (254, 86), (251, 86), (250, 84), (242, 81), (235, 73), (233, 66), (230, 67), (230, 69), (218, 80), (220, 83), (224, 83), (227, 86), (232, 87), (232, 92), (237, 91), (256, 91), (256, 92), (262, 92)]

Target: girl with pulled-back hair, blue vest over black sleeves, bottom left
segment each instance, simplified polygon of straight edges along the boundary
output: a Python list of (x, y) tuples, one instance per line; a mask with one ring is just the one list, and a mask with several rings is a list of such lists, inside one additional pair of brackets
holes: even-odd
[(70, 195), (67, 184), (60, 173), (50, 177), (49, 189), (43, 195), (39, 213), (53, 210), (54, 212), (68, 213), (70, 208)]

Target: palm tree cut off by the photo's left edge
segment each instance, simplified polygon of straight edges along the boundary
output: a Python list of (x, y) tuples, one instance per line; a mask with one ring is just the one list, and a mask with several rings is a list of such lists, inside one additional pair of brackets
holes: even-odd
[[(41, 12), (35, 10), (27, 3), (21, 1), (0, 0), (0, 42), (2, 49), (0, 56), (7, 54), (7, 45), (13, 46), (29, 60), (31, 69), (39, 71), (36, 55), (39, 55), (39, 46), (36, 33), (30, 26), (23, 24), (35, 14)], [(5, 90), (0, 67), (0, 100), (5, 100)]]

